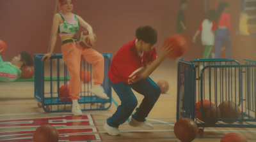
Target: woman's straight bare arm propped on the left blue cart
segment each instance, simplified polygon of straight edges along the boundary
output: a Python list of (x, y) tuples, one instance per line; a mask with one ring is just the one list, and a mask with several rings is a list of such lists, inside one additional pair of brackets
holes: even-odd
[(51, 48), (48, 51), (48, 53), (46, 53), (43, 58), (42, 61), (44, 61), (44, 59), (49, 60), (49, 58), (52, 56), (52, 52), (54, 50), (54, 46), (56, 44), (56, 40), (57, 40), (57, 35), (58, 35), (58, 26), (60, 25), (60, 19), (61, 16), (59, 13), (55, 14), (53, 17), (53, 21), (52, 21), (52, 39), (51, 39)]

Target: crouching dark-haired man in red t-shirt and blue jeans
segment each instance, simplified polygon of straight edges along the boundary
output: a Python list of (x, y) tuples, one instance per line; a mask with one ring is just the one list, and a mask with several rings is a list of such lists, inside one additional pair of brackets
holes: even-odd
[(118, 126), (131, 116), (138, 104), (131, 89), (143, 95), (144, 99), (132, 115), (129, 125), (142, 129), (153, 129), (153, 125), (145, 118), (160, 96), (161, 89), (148, 76), (171, 52), (171, 46), (165, 46), (157, 57), (154, 47), (156, 42), (157, 32), (155, 29), (150, 26), (139, 27), (136, 30), (136, 39), (122, 46), (113, 58), (108, 76), (122, 103), (104, 125), (104, 129), (109, 135), (120, 134)]

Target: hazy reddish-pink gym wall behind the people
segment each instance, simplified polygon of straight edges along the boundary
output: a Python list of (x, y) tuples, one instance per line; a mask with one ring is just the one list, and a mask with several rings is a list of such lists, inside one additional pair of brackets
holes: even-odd
[[(184, 58), (200, 58), (203, 46), (200, 37), (191, 43), (196, 29), (207, 16), (203, 0), (188, 0), (186, 22), (189, 47)], [(221, 0), (230, 3), (230, 16), (236, 31), (239, 28), (241, 0)], [(208, 10), (216, 9), (220, 0), (209, 0)], [(179, 0), (75, 0), (74, 13), (92, 25), (97, 34), (95, 49), (100, 53), (115, 54), (118, 49), (135, 38), (135, 30), (141, 25), (152, 25), (158, 32), (157, 50), (164, 39), (176, 32)], [(7, 46), (3, 59), (10, 60), (20, 51), (31, 54), (46, 53), (51, 36), (55, 0), (0, 0), (0, 39)], [(58, 12), (58, 8), (57, 8)], [(82, 31), (80, 28), (79, 31)], [(61, 41), (57, 40), (54, 53), (61, 53)], [(256, 53), (255, 36), (232, 36), (232, 58), (253, 59)]]

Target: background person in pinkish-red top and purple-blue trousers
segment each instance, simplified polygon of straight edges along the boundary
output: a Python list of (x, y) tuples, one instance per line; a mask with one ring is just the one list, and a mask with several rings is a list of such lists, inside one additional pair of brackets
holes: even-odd
[(215, 34), (215, 52), (216, 58), (220, 58), (222, 45), (226, 48), (227, 58), (231, 59), (231, 43), (230, 32), (234, 33), (234, 29), (230, 24), (230, 15), (228, 3), (220, 3), (216, 11), (216, 19), (218, 21), (218, 29)]

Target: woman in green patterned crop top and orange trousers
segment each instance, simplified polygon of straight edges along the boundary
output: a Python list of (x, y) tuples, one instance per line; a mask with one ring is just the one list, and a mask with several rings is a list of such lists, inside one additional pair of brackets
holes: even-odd
[(83, 48), (76, 39), (76, 32), (79, 25), (88, 31), (88, 38), (92, 45), (95, 44), (92, 26), (83, 20), (83, 18), (72, 13), (74, 6), (73, 0), (58, 0), (60, 13), (56, 13), (52, 23), (52, 39), (51, 50), (46, 53), (42, 60), (48, 60), (54, 50), (57, 35), (59, 32), (62, 46), (61, 52), (63, 60), (67, 65), (68, 72), (70, 73), (70, 98), (72, 99), (72, 113), (74, 115), (83, 115), (77, 99), (79, 99), (79, 92), (81, 90), (80, 80), (80, 63), (81, 58), (93, 64), (93, 80), (94, 85), (91, 92), (96, 96), (103, 99), (108, 99), (104, 93), (101, 84), (104, 78), (104, 57), (92, 48)]

